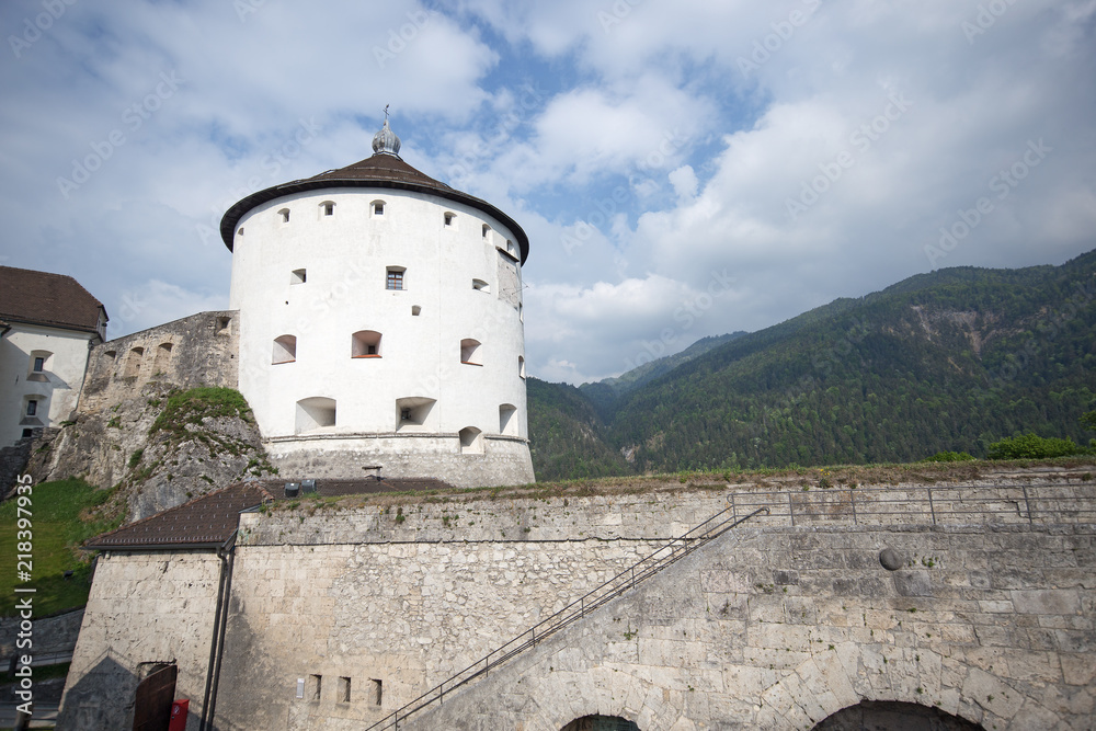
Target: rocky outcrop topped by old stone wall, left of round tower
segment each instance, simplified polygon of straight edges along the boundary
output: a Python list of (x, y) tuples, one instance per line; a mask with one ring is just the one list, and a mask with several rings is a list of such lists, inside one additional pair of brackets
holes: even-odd
[(92, 349), (80, 406), (36, 441), (35, 482), (117, 487), (137, 521), (251, 475), (273, 473), (236, 390), (236, 312), (199, 312)]

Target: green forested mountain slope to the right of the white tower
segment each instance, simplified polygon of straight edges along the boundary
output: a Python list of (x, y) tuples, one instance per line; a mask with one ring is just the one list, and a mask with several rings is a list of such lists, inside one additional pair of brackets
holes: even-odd
[(939, 270), (733, 338), (619, 395), (530, 379), (534, 466), (555, 479), (582, 475), (569, 465), (604, 475), (984, 456), (1024, 431), (1084, 444), (1096, 436), (1078, 421), (1096, 409), (1094, 333), (1096, 252)]

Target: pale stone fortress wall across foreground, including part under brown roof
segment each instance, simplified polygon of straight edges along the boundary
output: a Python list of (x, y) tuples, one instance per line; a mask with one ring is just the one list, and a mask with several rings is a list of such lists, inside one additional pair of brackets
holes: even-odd
[[(767, 507), (400, 728), (559, 731), (594, 712), (643, 731), (810, 728), (864, 699), (935, 704), (986, 729), (1087, 728), (1091, 471), (806, 491), (483, 491), (246, 513), (217, 727), (363, 728), (665, 539), (720, 511)], [(880, 563), (886, 548), (900, 557), (894, 571)], [(155, 639), (149, 607), (122, 591), (149, 561), (167, 562), (149, 589), (160, 602)], [(170, 555), (105, 560), (89, 616), (110, 617), (113, 636), (146, 639), (110, 646), (103, 630), (81, 635), (73, 667), (109, 656), (136, 676), (163, 659), (160, 635), (179, 635), (181, 687), (201, 686), (208, 642), (183, 640), (203, 637), (202, 615), (171, 607), (201, 606), (210, 590), (183, 569)], [(81, 683), (92, 697), (95, 683), (73, 671), (70, 686)], [(197, 716), (201, 698), (191, 708)]]

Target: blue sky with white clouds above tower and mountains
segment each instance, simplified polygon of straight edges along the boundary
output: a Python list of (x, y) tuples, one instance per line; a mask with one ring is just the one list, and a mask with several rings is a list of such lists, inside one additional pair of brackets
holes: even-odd
[(409, 163), (529, 233), (548, 380), (1096, 247), (1094, 0), (10, 0), (0, 23), (0, 262), (76, 276), (112, 336), (227, 307), (224, 210), (367, 157), (386, 104)]

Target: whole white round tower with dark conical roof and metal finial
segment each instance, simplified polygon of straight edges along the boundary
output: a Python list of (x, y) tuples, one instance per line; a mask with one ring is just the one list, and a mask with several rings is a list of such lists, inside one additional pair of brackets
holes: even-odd
[(221, 219), (240, 391), (281, 475), (532, 482), (525, 231), (374, 155), (253, 193)]

